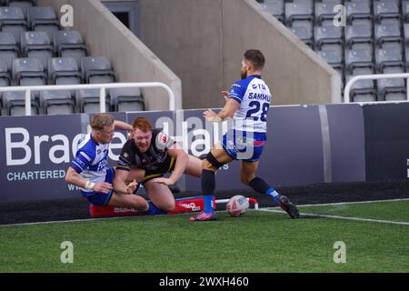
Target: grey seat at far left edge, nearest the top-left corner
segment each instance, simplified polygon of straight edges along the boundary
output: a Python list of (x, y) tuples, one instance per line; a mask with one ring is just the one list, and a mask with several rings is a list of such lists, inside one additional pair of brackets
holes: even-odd
[(25, 15), (20, 7), (0, 7), (0, 29), (15, 35), (15, 41), (20, 43), (20, 33), (27, 31)]

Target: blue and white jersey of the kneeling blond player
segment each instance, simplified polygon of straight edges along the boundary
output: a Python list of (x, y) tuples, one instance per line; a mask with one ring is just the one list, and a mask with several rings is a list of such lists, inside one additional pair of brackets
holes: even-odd
[[(109, 144), (100, 145), (91, 133), (84, 135), (78, 142), (75, 160), (70, 166), (86, 180), (94, 183), (105, 181), (106, 166), (108, 165)], [(93, 192), (85, 190), (84, 192)]]

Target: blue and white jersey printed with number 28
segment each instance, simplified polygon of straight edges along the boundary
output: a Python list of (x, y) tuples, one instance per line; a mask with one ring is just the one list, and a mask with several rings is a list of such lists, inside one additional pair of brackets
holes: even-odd
[(240, 103), (233, 116), (235, 130), (257, 133), (267, 131), (267, 113), (272, 95), (261, 75), (250, 75), (234, 82), (229, 98)]

